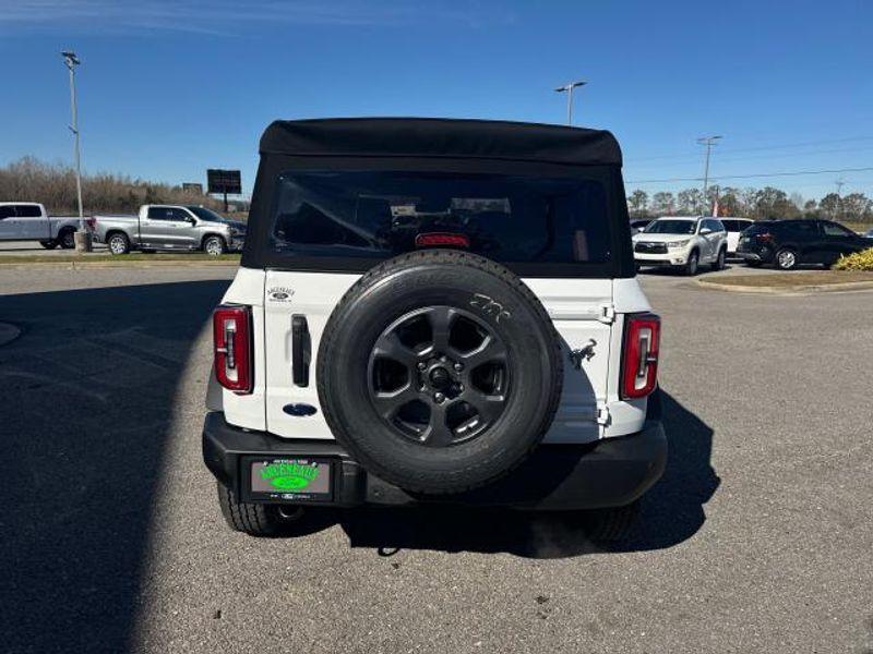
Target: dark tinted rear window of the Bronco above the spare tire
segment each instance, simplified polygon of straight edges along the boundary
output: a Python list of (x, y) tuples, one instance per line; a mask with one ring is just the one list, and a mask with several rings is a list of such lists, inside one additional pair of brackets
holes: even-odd
[(599, 180), (436, 172), (288, 172), (271, 249), (306, 257), (391, 257), (450, 245), (504, 263), (605, 263)]

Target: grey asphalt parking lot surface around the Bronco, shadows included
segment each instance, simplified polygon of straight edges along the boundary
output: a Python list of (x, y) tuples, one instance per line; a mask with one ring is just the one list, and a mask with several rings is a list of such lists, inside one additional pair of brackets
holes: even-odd
[(200, 426), (232, 274), (0, 268), (3, 651), (873, 652), (873, 292), (644, 275), (670, 462), (599, 550), (495, 511), (230, 532)]

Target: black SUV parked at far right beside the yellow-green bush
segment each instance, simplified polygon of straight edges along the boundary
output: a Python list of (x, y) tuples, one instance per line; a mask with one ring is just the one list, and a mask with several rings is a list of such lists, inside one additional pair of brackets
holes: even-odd
[(868, 247), (869, 240), (830, 220), (773, 220), (743, 231), (737, 254), (753, 267), (773, 264), (790, 270), (798, 264), (829, 267), (841, 255)]

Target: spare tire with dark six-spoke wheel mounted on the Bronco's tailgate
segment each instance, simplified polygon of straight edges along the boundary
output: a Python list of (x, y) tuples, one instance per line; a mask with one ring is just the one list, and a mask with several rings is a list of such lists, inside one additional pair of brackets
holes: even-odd
[(561, 346), (521, 279), (489, 259), (421, 251), (361, 277), (321, 339), (318, 391), (336, 439), (415, 493), (482, 486), (542, 439)]

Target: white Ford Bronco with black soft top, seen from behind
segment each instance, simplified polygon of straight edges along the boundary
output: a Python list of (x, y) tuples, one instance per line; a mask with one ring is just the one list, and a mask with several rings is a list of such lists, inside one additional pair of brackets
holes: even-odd
[(231, 528), (442, 502), (626, 533), (667, 439), (610, 133), (278, 121), (249, 223), (203, 428)]

